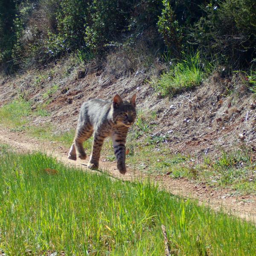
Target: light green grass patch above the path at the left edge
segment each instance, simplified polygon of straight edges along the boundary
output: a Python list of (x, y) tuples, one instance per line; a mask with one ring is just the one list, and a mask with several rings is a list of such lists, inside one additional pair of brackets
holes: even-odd
[(30, 114), (30, 102), (23, 98), (19, 98), (0, 108), (0, 122), (10, 128), (20, 127), (28, 122), (27, 117)]

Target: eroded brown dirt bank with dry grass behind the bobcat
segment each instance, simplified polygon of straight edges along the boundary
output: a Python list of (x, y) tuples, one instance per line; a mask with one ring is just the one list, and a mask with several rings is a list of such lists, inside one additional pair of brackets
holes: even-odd
[[(77, 71), (76, 71), (77, 72)], [(235, 151), (246, 146), (253, 149), (256, 160), (256, 99), (239, 75), (222, 78), (218, 72), (201, 86), (180, 95), (161, 98), (148, 83), (152, 74), (117, 76), (109, 70), (78, 78), (74, 73), (34, 81), (35, 74), (0, 79), (0, 106), (22, 95), (32, 102), (32, 109), (45, 104), (49, 116), (38, 116), (32, 125), (55, 125), (56, 131), (76, 127), (79, 108), (92, 98), (111, 100), (115, 93), (129, 99), (137, 93), (137, 109), (147, 115), (156, 113), (150, 124), (152, 135), (164, 136), (173, 154), (202, 158), (217, 157), (222, 150)], [(43, 75), (41, 75), (43, 76)], [(35, 84), (36, 83), (36, 84)], [(56, 88), (49, 98), (47, 95)]]

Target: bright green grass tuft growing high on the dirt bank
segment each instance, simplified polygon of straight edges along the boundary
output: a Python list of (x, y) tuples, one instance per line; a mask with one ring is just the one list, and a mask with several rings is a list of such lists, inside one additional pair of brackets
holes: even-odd
[(155, 90), (162, 96), (174, 96), (184, 90), (201, 84), (204, 72), (201, 68), (199, 52), (186, 60), (172, 64), (169, 72), (154, 83)]

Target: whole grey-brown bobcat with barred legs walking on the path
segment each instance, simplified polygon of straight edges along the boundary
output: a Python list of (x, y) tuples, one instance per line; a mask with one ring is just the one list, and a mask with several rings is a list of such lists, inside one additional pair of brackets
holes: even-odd
[(87, 167), (97, 169), (103, 141), (106, 137), (111, 137), (117, 160), (117, 169), (120, 173), (125, 174), (125, 141), (128, 128), (136, 118), (135, 100), (136, 94), (131, 97), (130, 102), (123, 101), (116, 94), (112, 102), (100, 99), (91, 99), (84, 102), (81, 106), (76, 136), (68, 153), (68, 158), (76, 160), (77, 152), (80, 159), (85, 159), (83, 142), (93, 134), (93, 148)]

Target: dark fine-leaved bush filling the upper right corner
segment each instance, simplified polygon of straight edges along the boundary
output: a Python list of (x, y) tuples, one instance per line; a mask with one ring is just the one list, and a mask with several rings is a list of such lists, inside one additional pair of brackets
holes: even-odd
[(211, 2), (192, 29), (192, 38), (208, 55), (224, 55), (233, 66), (248, 64), (256, 53), (255, 7), (254, 0)]

